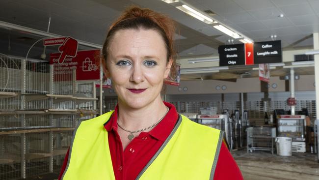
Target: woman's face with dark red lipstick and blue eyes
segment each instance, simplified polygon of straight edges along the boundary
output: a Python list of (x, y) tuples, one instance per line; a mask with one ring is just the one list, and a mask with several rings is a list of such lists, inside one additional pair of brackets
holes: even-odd
[(156, 30), (119, 30), (110, 41), (106, 60), (119, 103), (133, 109), (158, 100), (170, 71), (164, 41)]

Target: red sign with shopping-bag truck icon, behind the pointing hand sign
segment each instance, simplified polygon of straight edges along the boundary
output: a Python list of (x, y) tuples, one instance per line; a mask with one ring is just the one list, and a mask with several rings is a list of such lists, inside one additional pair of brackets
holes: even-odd
[(74, 58), (66, 57), (59, 62), (62, 53), (51, 53), (50, 64), (53, 64), (54, 81), (62, 81), (63, 75), (72, 74), (76, 69), (76, 80), (100, 79), (100, 50), (77, 51)]

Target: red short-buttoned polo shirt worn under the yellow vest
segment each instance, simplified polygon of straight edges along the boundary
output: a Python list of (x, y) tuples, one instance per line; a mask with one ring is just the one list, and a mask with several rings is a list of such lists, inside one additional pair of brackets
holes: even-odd
[[(110, 120), (104, 124), (108, 132), (108, 146), (116, 180), (135, 180), (172, 132), (178, 120), (178, 113), (174, 105), (167, 102), (164, 104), (169, 107), (165, 118), (151, 131), (141, 132), (134, 137), (125, 150), (123, 150), (120, 136), (117, 133), (118, 106), (116, 106)], [(69, 151), (65, 156), (59, 180), (66, 168), (68, 154)], [(234, 158), (223, 143), (219, 152), (214, 180), (243, 180)]]

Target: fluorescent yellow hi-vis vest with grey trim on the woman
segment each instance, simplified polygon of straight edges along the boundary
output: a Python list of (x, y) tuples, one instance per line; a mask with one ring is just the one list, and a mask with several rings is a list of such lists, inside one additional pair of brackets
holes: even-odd
[[(112, 113), (80, 123), (62, 180), (115, 180), (104, 128)], [(213, 180), (222, 137), (223, 131), (180, 115), (136, 180)]]

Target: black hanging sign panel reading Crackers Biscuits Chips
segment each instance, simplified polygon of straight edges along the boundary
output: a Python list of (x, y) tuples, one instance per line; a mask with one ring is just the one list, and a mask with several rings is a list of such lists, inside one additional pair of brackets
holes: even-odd
[(218, 53), (219, 66), (245, 65), (244, 44), (219, 46)]

